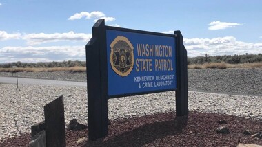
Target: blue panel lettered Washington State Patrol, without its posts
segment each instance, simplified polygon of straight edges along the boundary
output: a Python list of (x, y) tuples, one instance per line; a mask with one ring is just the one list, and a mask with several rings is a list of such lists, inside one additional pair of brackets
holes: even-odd
[(174, 36), (106, 30), (108, 95), (177, 88)]

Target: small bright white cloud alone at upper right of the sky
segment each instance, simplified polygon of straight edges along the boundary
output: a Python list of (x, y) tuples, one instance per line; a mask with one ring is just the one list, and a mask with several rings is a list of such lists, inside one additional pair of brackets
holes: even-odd
[(240, 23), (226, 23), (221, 21), (212, 21), (209, 23), (210, 27), (208, 27), (208, 30), (223, 30), (228, 27), (236, 27), (237, 25), (241, 25)]

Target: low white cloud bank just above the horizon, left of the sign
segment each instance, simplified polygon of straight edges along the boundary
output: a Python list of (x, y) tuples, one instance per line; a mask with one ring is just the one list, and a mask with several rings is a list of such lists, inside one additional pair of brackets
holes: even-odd
[(85, 46), (3, 47), (0, 63), (85, 60)]

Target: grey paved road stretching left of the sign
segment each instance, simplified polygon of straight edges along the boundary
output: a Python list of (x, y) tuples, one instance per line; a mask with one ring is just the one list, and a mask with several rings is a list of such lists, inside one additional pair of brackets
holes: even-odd
[[(17, 84), (16, 77), (0, 77), (0, 84)], [(62, 80), (44, 80), (36, 78), (18, 78), (18, 84), (50, 85), (50, 86), (79, 86), (87, 87), (86, 82), (71, 82)]]

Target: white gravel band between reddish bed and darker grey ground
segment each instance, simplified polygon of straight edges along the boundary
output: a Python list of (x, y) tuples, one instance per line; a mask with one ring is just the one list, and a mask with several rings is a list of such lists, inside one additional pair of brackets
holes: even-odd
[[(87, 124), (86, 87), (0, 84), (0, 142), (44, 120), (43, 106), (64, 95), (66, 124), (73, 118)], [(175, 92), (108, 100), (110, 120), (175, 110)], [(262, 120), (262, 97), (189, 92), (190, 111), (223, 113)]]

